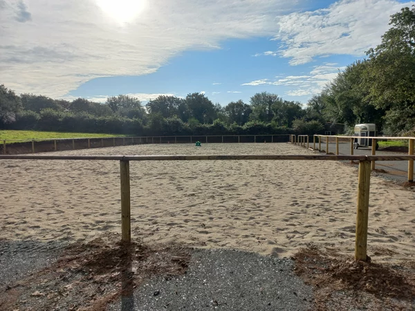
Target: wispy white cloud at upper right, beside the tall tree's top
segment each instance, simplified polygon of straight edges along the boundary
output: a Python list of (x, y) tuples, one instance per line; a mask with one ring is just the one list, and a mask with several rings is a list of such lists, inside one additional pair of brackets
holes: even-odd
[(365, 50), (380, 44), (380, 36), (389, 28), (389, 16), (412, 4), (394, 0), (341, 0), (329, 8), (279, 17), (275, 40), (282, 41), (282, 47), (277, 53), (290, 58), (291, 65), (333, 54), (363, 56)]

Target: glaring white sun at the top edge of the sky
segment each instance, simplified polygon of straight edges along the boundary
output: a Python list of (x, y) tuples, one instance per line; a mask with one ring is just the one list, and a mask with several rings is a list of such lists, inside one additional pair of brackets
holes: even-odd
[(146, 0), (95, 0), (101, 10), (119, 23), (129, 23), (145, 9)]

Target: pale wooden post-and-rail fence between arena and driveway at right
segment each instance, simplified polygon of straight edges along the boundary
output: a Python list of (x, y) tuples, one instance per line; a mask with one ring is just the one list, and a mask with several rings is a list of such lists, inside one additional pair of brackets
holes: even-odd
[[(322, 140), (326, 142), (326, 149), (324, 150), (326, 154), (330, 154), (329, 151), (329, 142), (330, 140), (335, 143), (335, 154), (339, 156), (339, 144), (341, 140), (348, 140), (347, 143), (350, 143), (350, 155), (353, 156), (354, 153), (354, 140), (356, 138), (365, 138), (371, 140), (371, 155), (376, 156), (376, 142), (378, 140), (408, 140), (408, 156), (414, 155), (414, 144), (415, 144), (415, 137), (375, 137), (375, 136), (342, 136), (342, 135), (313, 135), (313, 150), (317, 150), (319, 152), (322, 151)], [(318, 141), (318, 142), (317, 142)], [(293, 144), (297, 144), (302, 147), (306, 147), (310, 149), (310, 136), (309, 135), (290, 135), (290, 142)], [(316, 144), (318, 147), (316, 149)], [(374, 171), (376, 169), (376, 159), (371, 160), (371, 170)], [(408, 160), (408, 182), (414, 182), (414, 160)]]

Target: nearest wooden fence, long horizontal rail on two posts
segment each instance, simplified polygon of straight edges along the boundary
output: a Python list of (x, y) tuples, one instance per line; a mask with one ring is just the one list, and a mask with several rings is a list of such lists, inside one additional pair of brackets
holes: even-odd
[(0, 156), (0, 160), (110, 160), (120, 161), (121, 233), (122, 241), (131, 241), (131, 209), (129, 161), (192, 161), (192, 160), (357, 160), (359, 161), (358, 205), (356, 211), (356, 260), (367, 260), (367, 225), (369, 218), (371, 161), (415, 160), (415, 156)]

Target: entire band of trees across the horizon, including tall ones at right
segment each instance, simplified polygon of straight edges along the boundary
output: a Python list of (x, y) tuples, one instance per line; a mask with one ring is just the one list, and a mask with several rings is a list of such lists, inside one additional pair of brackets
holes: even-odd
[(388, 135), (414, 135), (415, 6), (391, 15), (391, 28), (365, 59), (339, 72), (304, 107), (273, 93), (248, 103), (214, 104), (201, 93), (160, 95), (147, 104), (128, 95), (104, 103), (54, 100), (0, 86), (0, 129), (131, 135), (324, 133), (326, 122), (375, 123)]

